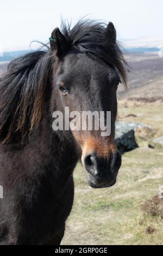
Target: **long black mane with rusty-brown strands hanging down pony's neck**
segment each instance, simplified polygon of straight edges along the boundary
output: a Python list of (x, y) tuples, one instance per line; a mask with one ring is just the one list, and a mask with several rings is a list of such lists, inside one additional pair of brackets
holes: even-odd
[(52, 69), (50, 51), (13, 59), (0, 78), (0, 140), (29, 135), (41, 120), (45, 89)]

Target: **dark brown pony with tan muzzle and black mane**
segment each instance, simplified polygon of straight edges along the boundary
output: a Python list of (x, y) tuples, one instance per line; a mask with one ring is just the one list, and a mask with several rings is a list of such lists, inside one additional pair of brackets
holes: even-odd
[[(114, 143), (123, 54), (111, 22), (62, 23), (51, 47), (14, 59), (0, 80), (1, 245), (59, 245), (73, 204), (73, 169), (82, 157), (94, 188), (115, 184)], [(54, 131), (52, 113), (111, 111), (111, 135)]]

